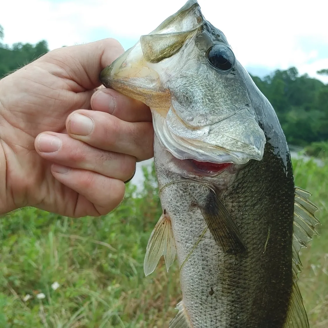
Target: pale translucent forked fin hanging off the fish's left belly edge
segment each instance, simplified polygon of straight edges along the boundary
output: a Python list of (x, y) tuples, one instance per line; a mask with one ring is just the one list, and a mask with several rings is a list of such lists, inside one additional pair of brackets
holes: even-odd
[(145, 275), (148, 276), (155, 270), (162, 255), (164, 255), (166, 269), (169, 271), (170, 266), (174, 262), (175, 253), (176, 246), (171, 219), (168, 215), (162, 214), (148, 240), (144, 259)]

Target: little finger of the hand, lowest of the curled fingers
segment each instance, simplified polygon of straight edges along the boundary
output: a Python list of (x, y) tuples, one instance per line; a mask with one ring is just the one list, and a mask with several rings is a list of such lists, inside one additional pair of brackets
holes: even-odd
[[(105, 215), (123, 199), (125, 184), (121, 180), (86, 170), (72, 169), (58, 164), (51, 165), (52, 175), (79, 195), (73, 215)], [(81, 197), (82, 195), (82, 197)], [(90, 201), (96, 213), (90, 213)]]

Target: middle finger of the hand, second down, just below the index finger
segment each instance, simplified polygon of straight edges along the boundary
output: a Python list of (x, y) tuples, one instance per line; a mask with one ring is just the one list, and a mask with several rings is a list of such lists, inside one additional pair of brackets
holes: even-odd
[(125, 122), (103, 112), (78, 110), (66, 121), (67, 132), (95, 148), (134, 156), (138, 161), (154, 155), (150, 122)]

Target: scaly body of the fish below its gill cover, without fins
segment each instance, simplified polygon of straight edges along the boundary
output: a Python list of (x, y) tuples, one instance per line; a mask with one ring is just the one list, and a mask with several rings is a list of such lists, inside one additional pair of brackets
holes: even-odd
[[(159, 147), (155, 145), (155, 152)], [(248, 252), (242, 258), (225, 254), (209, 232), (199, 242), (180, 271), (192, 327), (283, 327), (293, 283), (294, 182), (269, 144), (266, 148), (262, 161), (251, 160), (235, 176), (227, 174), (225, 189), (222, 177), (211, 178), (214, 188), (220, 186), (219, 198)], [(167, 170), (161, 157), (154, 158), (160, 188), (183, 177)], [(190, 204), (208, 196), (207, 187), (188, 182), (161, 192), (162, 207), (172, 221), (179, 266), (206, 228), (200, 210)]]

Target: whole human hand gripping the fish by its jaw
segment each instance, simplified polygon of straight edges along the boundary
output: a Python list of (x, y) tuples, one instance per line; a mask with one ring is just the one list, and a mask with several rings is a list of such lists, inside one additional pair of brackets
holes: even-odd
[(0, 214), (98, 216), (120, 203), (154, 135), (146, 105), (95, 92), (122, 52), (113, 39), (60, 48), (0, 80)]

